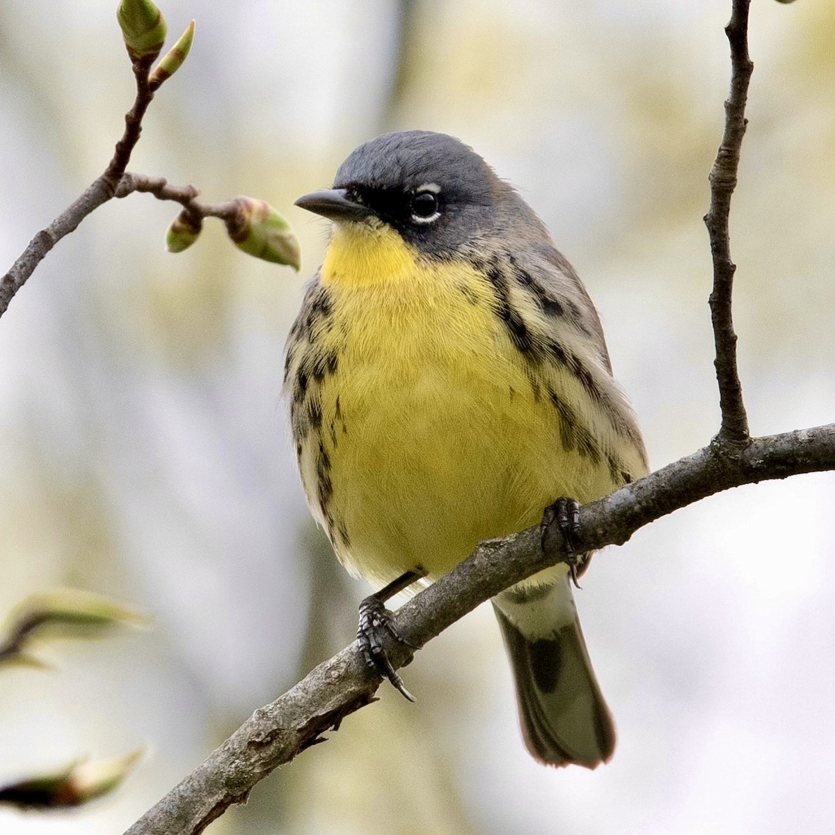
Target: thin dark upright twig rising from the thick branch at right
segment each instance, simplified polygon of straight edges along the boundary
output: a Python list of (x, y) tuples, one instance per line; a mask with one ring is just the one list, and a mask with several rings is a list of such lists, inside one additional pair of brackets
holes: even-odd
[(731, 94), (725, 102), (725, 130), (711, 169), (711, 208), (705, 225), (711, 239), (713, 291), (711, 321), (716, 342), (716, 379), (719, 382), (721, 429), (716, 436), (722, 447), (744, 447), (749, 442), (748, 418), (736, 367), (736, 333), (731, 317), (731, 294), (736, 265), (731, 261), (728, 221), (731, 195), (736, 187), (742, 137), (747, 119), (745, 104), (754, 65), (748, 57), (748, 7), (751, 0), (733, 0), (731, 22), (725, 28), (731, 44)]

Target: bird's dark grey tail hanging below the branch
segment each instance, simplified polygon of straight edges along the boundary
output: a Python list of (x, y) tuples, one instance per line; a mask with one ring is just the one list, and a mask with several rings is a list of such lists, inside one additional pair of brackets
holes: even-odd
[(568, 579), (493, 600), (531, 755), (595, 768), (615, 751), (615, 722), (591, 668)]

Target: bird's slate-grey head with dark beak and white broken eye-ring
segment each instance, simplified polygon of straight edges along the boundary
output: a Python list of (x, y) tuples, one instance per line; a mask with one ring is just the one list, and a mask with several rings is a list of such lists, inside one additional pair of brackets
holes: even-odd
[(382, 221), (437, 256), (468, 245), (499, 217), (535, 221), (473, 149), (428, 130), (382, 134), (360, 145), (340, 165), (333, 189), (300, 197), (296, 205), (331, 220)]

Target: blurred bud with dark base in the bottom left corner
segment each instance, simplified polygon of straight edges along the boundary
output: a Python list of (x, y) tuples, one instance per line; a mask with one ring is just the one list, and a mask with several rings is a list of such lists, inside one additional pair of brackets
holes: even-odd
[(78, 760), (54, 772), (0, 787), (0, 803), (22, 809), (80, 806), (112, 792), (143, 757), (144, 748), (123, 757)]

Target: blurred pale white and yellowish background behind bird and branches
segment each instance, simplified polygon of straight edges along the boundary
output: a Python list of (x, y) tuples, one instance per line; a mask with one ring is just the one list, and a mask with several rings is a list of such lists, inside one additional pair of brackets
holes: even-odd
[[(133, 99), (116, 0), (0, 0), (0, 266), (99, 175)], [(722, 127), (729, 0), (164, 0), (195, 45), (130, 169), (284, 212), (303, 266), (173, 204), (112, 201), (0, 321), (0, 613), (57, 584), (152, 632), (3, 671), (0, 782), (79, 754), (151, 755), (71, 814), (0, 831), (121, 832), (257, 706), (352, 639), (367, 588), (308, 517), (280, 377), (326, 222), (292, 206), (384, 129), (472, 144), (583, 276), (655, 467), (718, 425), (701, 217)], [(835, 417), (835, 6), (757, 0), (731, 218), (755, 433)], [(537, 766), (482, 607), (210, 832), (831, 832), (835, 476), (721, 494), (595, 559), (578, 595), (618, 723), (595, 772)]]

